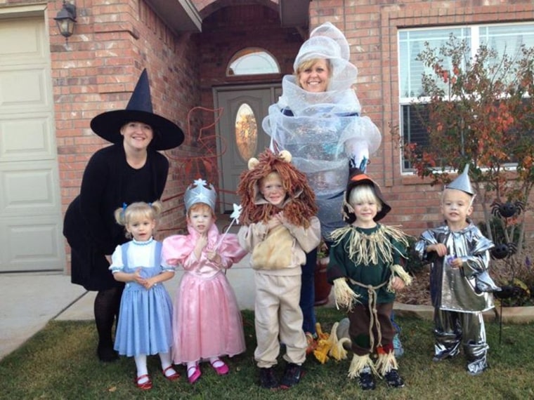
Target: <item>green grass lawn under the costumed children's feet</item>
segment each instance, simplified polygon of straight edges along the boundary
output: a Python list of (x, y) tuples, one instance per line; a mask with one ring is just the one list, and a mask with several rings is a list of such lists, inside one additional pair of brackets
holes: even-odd
[[(330, 331), (343, 314), (318, 308), (323, 331)], [(319, 364), (308, 357), (306, 375), (288, 390), (268, 391), (257, 385), (254, 364), (254, 314), (243, 312), (247, 352), (228, 361), (230, 374), (218, 376), (202, 364), (202, 378), (190, 385), (184, 366), (176, 382), (164, 379), (159, 358), (151, 356), (148, 369), (154, 388), (143, 392), (133, 385), (135, 364), (122, 357), (112, 364), (98, 361), (96, 330), (92, 321), (51, 321), (33, 338), (0, 361), (0, 399), (534, 399), (534, 325), (487, 323), (490, 369), (471, 377), (463, 354), (433, 363), (432, 325), (421, 319), (398, 318), (405, 355), (398, 359), (406, 386), (362, 392), (346, 377), (349, 359)], [(216, 335), (214, 327), (214, 335)], [(285, 361), (278, 366), (282, 374)]]

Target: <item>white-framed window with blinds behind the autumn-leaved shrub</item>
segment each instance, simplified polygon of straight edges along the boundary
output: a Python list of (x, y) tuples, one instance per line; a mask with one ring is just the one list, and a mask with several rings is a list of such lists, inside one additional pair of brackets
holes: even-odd
[[(461, 27), (415, 28), (398, 31), (399, 65), (399, 105), (401, 115), (401, 135), (404, 143), (417, 143), (418, 147), (429, 145), (429, 138), (422, 118), (425, 114), (425, 93), (423, 93), (423, 73), (432, 71), (426, 68), (417, 55), (424, 50), (425, 42), (431, 48), (440, 48), (450, 35), (468, 41), (470, 58), (481, 44), (493, 48), (499, 54), (506, 53), (514, 58), (519, 56), (521, 45), (534, 47), (534, 23), (470, 25)], [(446, 60), (444, 60), (446, 65)], [(403, 159), (403, 171), (410, 171), (410, 163)]]

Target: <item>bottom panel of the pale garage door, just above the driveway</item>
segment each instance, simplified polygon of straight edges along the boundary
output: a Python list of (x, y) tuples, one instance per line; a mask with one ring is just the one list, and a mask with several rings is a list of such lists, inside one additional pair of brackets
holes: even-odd
[(63, 236), (56, 218), (0, 218), (0, 221), (2, 269), (58, 269), (63, 264), (58, 256), (63, 252)]

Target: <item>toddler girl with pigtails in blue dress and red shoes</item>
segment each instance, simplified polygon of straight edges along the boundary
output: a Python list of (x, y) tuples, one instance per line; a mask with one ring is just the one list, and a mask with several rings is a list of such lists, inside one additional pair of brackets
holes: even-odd
[(147, 355), (159, 354), (162, 373), (168, 380), (180, 375), (171, 364), (172, 300), (162, 282), (174, 276), (174, 267), (161, 266), (162, 244), (152, 234), (162, 204), (133, 203), (115, 211), (115, 220), (133, 240), (117, 246), (110, 266), (113, 277), (125, 282), (122, 293), (115, 350), (136, 361), (136, 386), (152, 388)]

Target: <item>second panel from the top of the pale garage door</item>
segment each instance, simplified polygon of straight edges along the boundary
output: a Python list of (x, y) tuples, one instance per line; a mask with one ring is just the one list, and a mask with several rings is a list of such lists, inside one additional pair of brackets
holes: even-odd
[(50, 105), (43, 68), (0, 68), (0, 112), (43, 112)]

